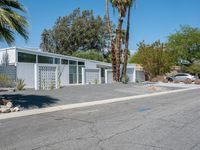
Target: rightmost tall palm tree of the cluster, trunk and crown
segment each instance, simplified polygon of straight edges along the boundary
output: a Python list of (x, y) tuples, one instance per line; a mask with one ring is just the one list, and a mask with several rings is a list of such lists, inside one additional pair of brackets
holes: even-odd
[(128, 49), (129, 49), (129, 33), (130, 33), (130, 20), (131, 20), (131, 7), (136, 3), (136, 0), (126, 0), (126, 7), (128, 7), (128, 16), (127, 16), (127, 28), (126, 28), (126, 41), (125, 41), (125, 49), (124, 49), (124, 64), (123, 64), (123, 80), (126, 80), (126, 71), (127, 71), (127, 63), (128, 63)]

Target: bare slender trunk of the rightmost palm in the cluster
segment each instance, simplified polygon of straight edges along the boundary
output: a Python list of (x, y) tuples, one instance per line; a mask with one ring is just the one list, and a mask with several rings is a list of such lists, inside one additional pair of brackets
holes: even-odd
[(127, 29), (126, 29), (126, 41), (124, 50), (124, 65), (123, 65), (123, 80), (126, 80), (126, 71), (128, 64), (128, 45), (129, 45), (129, 33), (130, 33), (130, 16), (131, 16), (131, 6), (128, 7), (128, 19), (127, 19)]

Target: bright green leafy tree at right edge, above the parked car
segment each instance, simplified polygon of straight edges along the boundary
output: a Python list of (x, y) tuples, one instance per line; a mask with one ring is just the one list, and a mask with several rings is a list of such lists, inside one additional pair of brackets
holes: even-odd
[(168, 37), (167, 47), (176, 64), (193, 64), (200, 59), (200, 29), (181, 26)]

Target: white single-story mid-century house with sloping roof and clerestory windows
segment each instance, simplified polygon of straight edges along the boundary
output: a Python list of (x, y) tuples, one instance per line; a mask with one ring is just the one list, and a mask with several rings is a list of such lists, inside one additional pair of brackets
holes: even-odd
[[(0, 49), (2, 64), (5, 56), (9, 64), (7, 73), (12, 74), (15, 80), (24, 80), (26, 88), (38, 90), (113, 82), (110, 63), (17, 47)], [(0, 73), (3, 73), (1, 69)], [(136, 81), (134, 64), (127, 66), (127, 76), (130, 82)]]

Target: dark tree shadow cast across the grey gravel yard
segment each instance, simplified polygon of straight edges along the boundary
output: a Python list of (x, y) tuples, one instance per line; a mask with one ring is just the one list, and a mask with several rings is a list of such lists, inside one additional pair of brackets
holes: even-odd
[(59, 99), (42, 95), (5, 94), (1, 97), (10, 100), (14, 106), (20, 105), (24, 109), (44, 108), (59, 101)]

